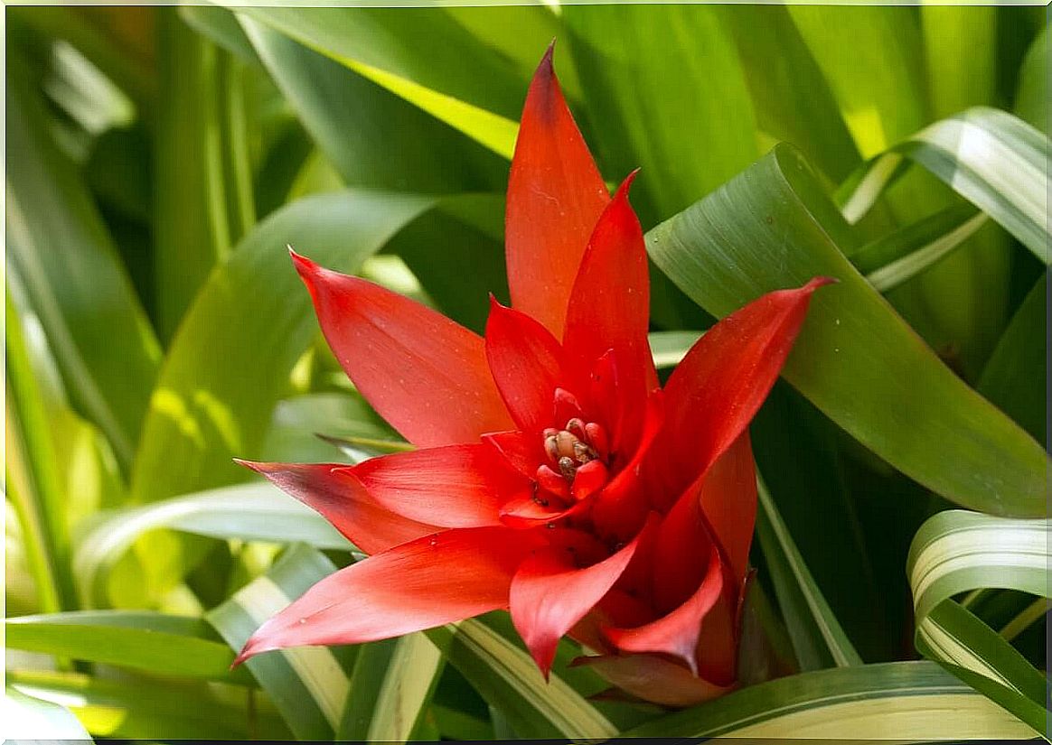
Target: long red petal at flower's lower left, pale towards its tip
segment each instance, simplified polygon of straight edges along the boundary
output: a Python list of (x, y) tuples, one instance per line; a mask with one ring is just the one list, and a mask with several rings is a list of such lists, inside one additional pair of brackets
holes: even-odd
[(260, 626), (238, 662), (289, 646), (389, 639), (507, 607), (511, 577), (540, 544), (523, 531), (468, 527), (370, 556)]

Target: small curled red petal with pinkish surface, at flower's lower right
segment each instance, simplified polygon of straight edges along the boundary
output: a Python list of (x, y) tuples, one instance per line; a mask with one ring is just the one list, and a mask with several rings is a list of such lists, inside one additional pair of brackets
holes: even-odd
[(724, 573), (712, 546), (708, 568), (697, 589), (671, 613), (634, 628), (605, 628), (606, 638), (621, 651), (659, 653), (677, 657), (697, 675), (697, 640), (703, 619), (723, 596)]

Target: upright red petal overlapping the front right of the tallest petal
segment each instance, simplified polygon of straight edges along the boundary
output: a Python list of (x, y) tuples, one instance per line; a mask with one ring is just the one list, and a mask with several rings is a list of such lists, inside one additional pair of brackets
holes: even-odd
[[(619, 397), (642, 401), (658, 386), (658, 373), (647, 342), (647, 251), (640, 221), (628, 204), (633, 178), (625, 179), (588, 242), (570, 295), (563, 347), (580, 376), (592, 373), (596, 360), (612, 349)], [(621, 423), (629, 438), (639, 433), (639, 412), (641, 407), (631, 407), (628, 420)], [(616, 433), (611, 436), (618, 439)]]

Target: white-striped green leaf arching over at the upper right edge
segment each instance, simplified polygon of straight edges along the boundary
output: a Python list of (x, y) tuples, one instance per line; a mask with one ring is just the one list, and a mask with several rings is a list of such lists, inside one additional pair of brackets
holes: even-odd
[(1026, 122), (993, 108), (975, 107), (938, 121), (866, 165), (858, 187), (844, 203), (855, 222), (910, 159), (938, 177), (1048, 264), (1049, 140)]

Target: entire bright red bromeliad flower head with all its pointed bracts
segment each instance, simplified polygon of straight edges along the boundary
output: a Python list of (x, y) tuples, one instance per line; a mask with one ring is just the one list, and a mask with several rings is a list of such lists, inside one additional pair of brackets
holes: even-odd
[(756, 506), (746, 428), (829, 281), (723, 319), (662, 390), (633, 177), (609, 198), (549, 49), (508, 185), (514, 307), (491, 301), (485, 337), (292, 255), (340, 364), (419, 450), (247, 463), (372, 556), (267, 621), (239, 661), (508, 608), (545, 675), (569, 634), (642, 698), (734, 685)]

